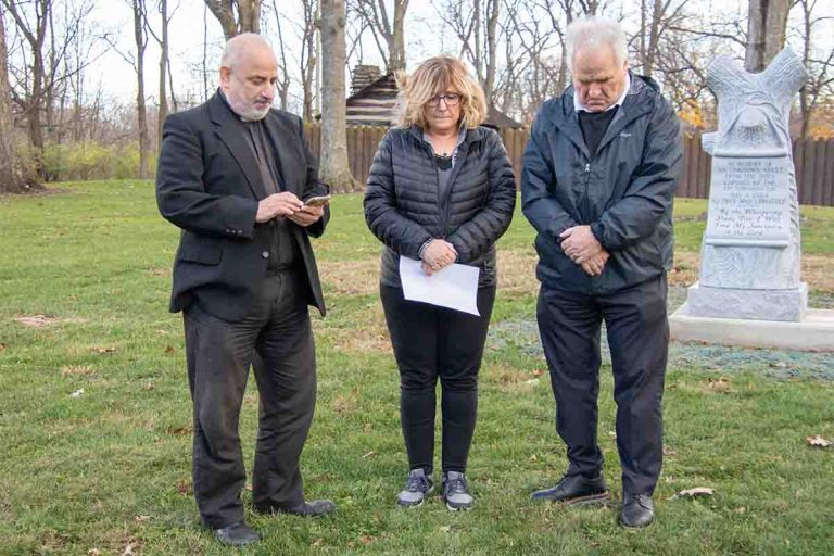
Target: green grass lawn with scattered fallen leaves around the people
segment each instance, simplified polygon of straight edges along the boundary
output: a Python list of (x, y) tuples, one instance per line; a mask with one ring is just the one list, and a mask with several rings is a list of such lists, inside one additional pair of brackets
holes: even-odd
[[(697, 275), (705, 211), (704, 201), (677, 203), (675, 283)], [(812, 299), (830, 304), (834, 208), (803, 214)], [(334, 199), (328, 233), (315, 242), (330, 313), (314, 318), (319, 396), (302, 464), (307, 495), (332, 497), (339, 509), (320, 520), (250, 514), (264, 541), (242, 554), (831, 554), (834, 450), (805, 439), (834, 439), (832, 354), (719, 356), (673, 345), (658, 522), (645, 531), (617, 527), (616, 505), (529, 500), (566, 467), (544, 361), (530, 340), (532, 238), (519, 213), (500, 244), (468, 470), (477, 506), (453, 514), (433, 500), (404, 511), (394, 507), (407, 466), (376, 293), (379, 247), (361, 197)], [(182, 325), (166, 311), (177, 239), (148, 182), (65, 184), (55, 194), (0, 199), (0, 555), (237, 553), (200, 528), (191, 492)], [(608, 364), (602, 376), (601, 445), (619, 496)], [(250, 465), (256, 412), (251, 380), (241, 417)], [(715, 495), (672, 500), (696, 486)]]

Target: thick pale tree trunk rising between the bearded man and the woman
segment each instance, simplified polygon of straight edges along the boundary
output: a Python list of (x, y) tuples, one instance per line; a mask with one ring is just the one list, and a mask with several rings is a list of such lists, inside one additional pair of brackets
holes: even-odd
[(348, 164), (348, 127), (344, 104), (344, 0), (321, 0), (321, 179), (334, 192), (358, 189)]

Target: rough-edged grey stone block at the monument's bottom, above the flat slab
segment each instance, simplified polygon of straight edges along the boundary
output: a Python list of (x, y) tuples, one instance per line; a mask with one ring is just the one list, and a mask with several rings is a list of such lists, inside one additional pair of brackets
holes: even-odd
[(793, 290), (711, 288), (695, 282), (686, 295), (686, 315), (799, 323), (808, 309), (808, 285)]

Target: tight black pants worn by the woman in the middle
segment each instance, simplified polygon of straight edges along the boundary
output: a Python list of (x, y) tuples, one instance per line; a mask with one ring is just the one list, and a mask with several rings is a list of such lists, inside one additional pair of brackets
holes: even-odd
[(434, 467), (434, 391), (440, 378), (444, 471), (465, 471), (478, 413), (478, 370), (495, 287), (478, 290), (481, 316), (407, 301), (380, 287), (400, 367), (400, 419), (412, 469)]

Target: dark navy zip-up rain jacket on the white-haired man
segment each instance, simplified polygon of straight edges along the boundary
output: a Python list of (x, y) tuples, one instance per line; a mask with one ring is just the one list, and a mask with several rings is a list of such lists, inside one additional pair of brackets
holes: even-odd
[[(539, 279), (563, 290), (611, 293), (672, 264), (672, 201), (681, 174), (681, 126), (655, 81), (631, 76), (626, 101), (593, 156), (573, 87), (545, 102), (525, 150), (521, 201), (539, 235)], [(559, 233), (591, 225), (611, 257), (591, 277), (561, 250)]]

